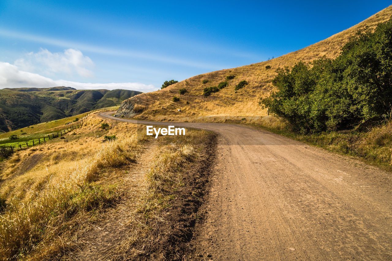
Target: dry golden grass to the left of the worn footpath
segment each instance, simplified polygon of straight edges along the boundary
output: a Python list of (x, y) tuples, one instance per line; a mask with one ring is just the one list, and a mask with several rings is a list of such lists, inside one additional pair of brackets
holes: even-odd
[(93, 116), (66, 139), (18, 151), (3, 162), (0, 196), (7, 208), (0, 215), (0, 257), (52, 256), (73, 230), (118, 198), (117, 184), (101, 179), (136, 160), (136, 126), (113, 126), (109, 134), (118, 139), (103, 143), (101, 123)]

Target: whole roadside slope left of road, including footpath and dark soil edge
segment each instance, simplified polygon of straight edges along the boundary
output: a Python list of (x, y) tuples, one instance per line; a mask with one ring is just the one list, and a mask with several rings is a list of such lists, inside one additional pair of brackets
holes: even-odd
[(92, 114), (65, 139), (0, 162), (0, 259), (173, 259), (196, 218), (214, 134), (154, 139), (140, 128)]

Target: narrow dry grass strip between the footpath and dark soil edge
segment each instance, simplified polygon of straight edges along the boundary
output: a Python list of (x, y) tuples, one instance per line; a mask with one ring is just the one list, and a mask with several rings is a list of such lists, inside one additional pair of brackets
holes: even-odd
[(174, 191), (183, 187), (183, 177), (187, 175), (186, 166), (199, 156), (200, 141), (206, 136), (208, 135), (205, 130), (188, 129), (186, 137), (160, 136), (157, 140), (147, 138), (156, 142), (156, 145), (148, 151), (151, 158), (145, 163), (147, 168), (142, 168), (144, 186), (140, 190), (139, 201), (134, 204), (134, 214), (127, 217), (127, 223), (132, 225), (133, 231), (129, 232), (116, 248), (103, 256), (103, 259), (143, 259), (140, 255), (149, 251), (149, 248), (135, 248), (136, 242), (144, 241), (148, 232), (156, 228), (157, 222), (165, 219), (164, 210), (173, 200)]

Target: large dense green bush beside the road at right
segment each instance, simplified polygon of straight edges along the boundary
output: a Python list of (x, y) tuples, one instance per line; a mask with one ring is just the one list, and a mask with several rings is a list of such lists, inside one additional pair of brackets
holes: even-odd
[(392, 107), (392, 20), (359, 32), (334, 60), (278, 69), (277, 91), (260, 104), (300, 133), (377, 124)]

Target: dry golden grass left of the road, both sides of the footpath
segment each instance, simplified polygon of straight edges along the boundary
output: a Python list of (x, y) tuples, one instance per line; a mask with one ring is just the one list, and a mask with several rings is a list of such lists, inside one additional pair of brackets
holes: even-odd
[[(101, 128), (104, 122), (109, 130)], [(134, 242), (163, 219), (170, 193), (183, 185), (183, 165), (197, 156), (195, 140), (205, 135), (189, 130), (186, 138), (153, 139), (142, 128), (93, 115), (65, 139), (2, 162), (0, 198), (7, 207), (0, 212), (0, 259), (74, 257), (78, 239), (94, 231), (91, 224), (124, 215), (125, 208), (116, 216), (112, 207), (120, 202), (130, 206), (123, 223), (131, 230), (110, 253), (119, 259), (140, 254)], [(104, 135), (117, 139), (102, 142)]]

